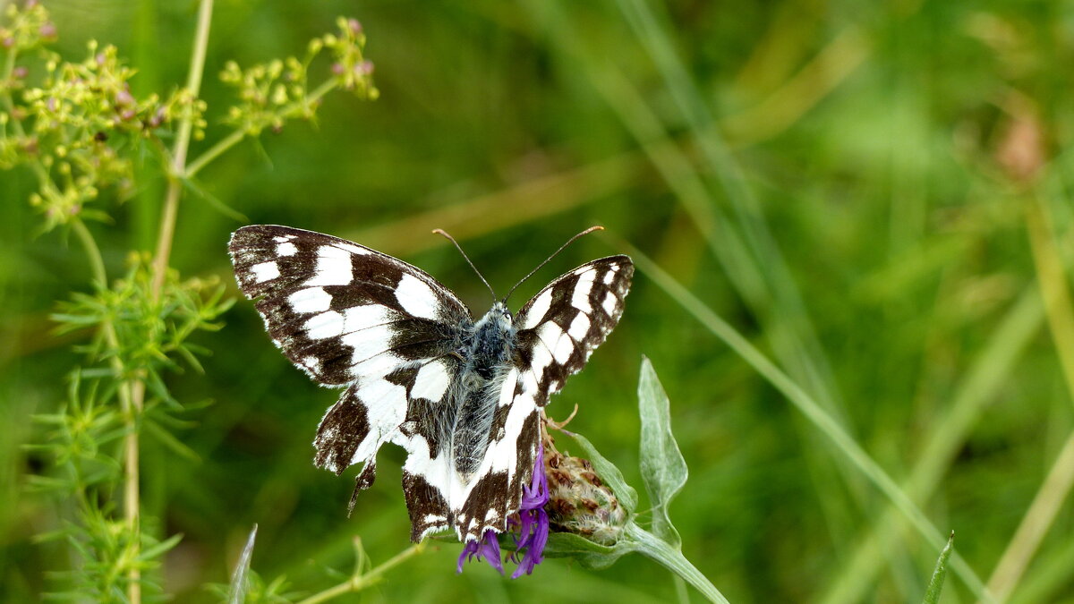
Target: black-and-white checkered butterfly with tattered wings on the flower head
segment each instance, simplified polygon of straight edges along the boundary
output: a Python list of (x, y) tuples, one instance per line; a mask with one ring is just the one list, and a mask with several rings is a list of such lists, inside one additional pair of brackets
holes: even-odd
[(380, 446), (402, 446), (415, 542), (506, 530), (534, 472), (541, 407), (619, 322), (634, 275), (628, 257), (600, 258), (513, 316), (505, 298), (475, 320), (429, 273), (347, 240), (253, 225), (229, 250), (273, 342), (318, 384), (344, 388), (317, 429), (315, 463), (337, 475), (362, 463), (353, 508)]

